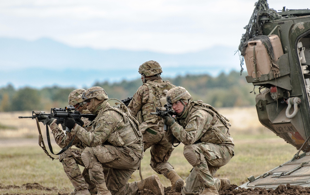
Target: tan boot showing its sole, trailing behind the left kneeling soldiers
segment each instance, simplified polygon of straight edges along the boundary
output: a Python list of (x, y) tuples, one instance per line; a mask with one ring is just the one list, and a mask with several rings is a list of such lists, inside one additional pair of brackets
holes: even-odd
[(164, 195), (164, 187), (157, 175), (151, 175), (142, 181), (138, 181), (138, 190), (149, 189), (155, 195)]

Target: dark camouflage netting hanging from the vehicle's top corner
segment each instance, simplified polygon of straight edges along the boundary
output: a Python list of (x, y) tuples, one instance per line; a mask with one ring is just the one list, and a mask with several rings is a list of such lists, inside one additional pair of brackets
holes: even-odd
[[(251, 15), (249, 24), (244, 27), (244, 29), (246, 29), (246, 33), (242, 34), (242, 37), (240, 40), (240, 45), (238, 49), (241, 52), (241, 55), (242, 55), (242, 51), (244, 50), (244, 45), (249, 39), (252, 39), (256, 36), (263, 35), (262, 27), (266, 20), (259, 20), (260, 18), (262, 18), (263, 16), (269, 18), (270, 20), (276, 20), (276, 19), (283, 18), (276, 11), (269, 9), (267, 0), (259, 0), (258, 2), (255, 3), (254, 6), (255, 8), (254, 8), (253, 14)], [(268, 51), (271, 51), (271, 50), (269, 49)], [(243, 65), (243, 58), (241, 58), (241, 64), (240, 64), (241, 72), (243, 71), (242, 65)]]

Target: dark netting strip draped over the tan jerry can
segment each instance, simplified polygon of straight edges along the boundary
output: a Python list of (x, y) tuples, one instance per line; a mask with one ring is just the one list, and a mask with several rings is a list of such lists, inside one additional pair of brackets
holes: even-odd
[(271, 45), (271, 41), (269, 39), (268, 36), (266, 35), (258, 35), (255, 36), (251, 39), (246, 40), (243, 43), (242, 46), (242, 50), (241, 50), (241, 55), (244, 56), (246, 54), (246, 48), (248, 46), (248, 42), (253, 41), (253, 40), (260, 40), (262, 41), (262, 43), (265, 45), (265, 48), (267, 49), (267, 53), (270, 59), (270, 67), (271, 70), (273, 71), (273, 77), (277, 78), (278, 76), (280, 76), (280, 71), (279, 71), (279, 66), (277, 65), (276, 61), (275, 61), (275, 57), (274, 57), (274, 53), (273, 53), (273, 48)]

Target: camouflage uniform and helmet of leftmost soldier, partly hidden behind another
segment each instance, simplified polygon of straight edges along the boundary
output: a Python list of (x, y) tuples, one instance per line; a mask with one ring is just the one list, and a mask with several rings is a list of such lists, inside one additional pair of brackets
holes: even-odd
[[(68, 98), (69, 105), (74, 106), (76, 104), (82, 103), (83, 101), (81, 99), (81, 95), (84, 91), (84, 89), (77, 89), (72, 91)], [(82, 111), (83, 114), (86, 114), (88, 112), (86, 110), (86, 104), (80, 105), (78, 110)], [(84, 122), (84, 125), (88, 125), (90, 123), (87, 118), (82, 117), (81, 120)], [(64, 132), (55, 123), (56, 121), (57, 120), (54, 119), (54, 121), (51, 122), (50, 128), (57, 145), (61, 148), (64, 148), (65, 146), (69, 145), (75, 133), (67, 132), (67, 134), (64, 134)], [(65, 128), (66, 127), (63, 126), (63, 130), (65, 130)], [(87, 128), (88, 131), (90, 129), (91, 128)], [(77, 136), (74, 138), (72, 145), (76, 146), (77, 148), (69, 148), (64, 153), (59, 155), (59, 161), (63, 164), (64, 172), (69, 177), (69, 180), (71, 181), (76, 191), (84, 189), (94, 189), (96, 186), (91, 183), (88, 170), (84, 169), (83, 173), (81, 173), (80, 168), (78, 167), (78, 165), (85, 167), (81, 159), (81, 154), (86, 145), (83, 144)]]

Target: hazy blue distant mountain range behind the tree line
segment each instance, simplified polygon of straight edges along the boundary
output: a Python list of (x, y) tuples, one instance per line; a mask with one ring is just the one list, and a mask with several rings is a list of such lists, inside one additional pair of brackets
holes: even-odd
[(156, 60), (163, 67), (163, 76), (239, 70), (236, 48), (214, 46), (183, 54), (119, 49), (74, 48), (42, 38), (27, 41), (0, 38), (0, 86), (12, 83), (21, 86), (90, 86), (95, 81), (120, 81), (139, 77), (138, 67)]

